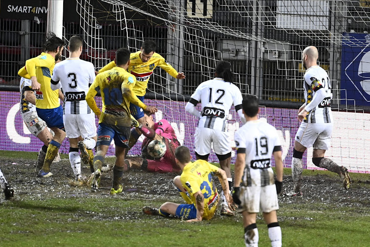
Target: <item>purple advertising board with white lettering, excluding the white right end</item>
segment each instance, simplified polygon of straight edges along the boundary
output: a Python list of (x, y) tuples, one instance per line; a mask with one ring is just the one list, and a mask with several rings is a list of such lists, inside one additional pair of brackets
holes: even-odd
[[(19, 92), (0, 91), (1, 122), (5, 122), (5, 124), (0, 125), (0, 150), (38, 152), (43, 144), (37, 137), (33, 136), (28, 131), (26, 125), (23, 123), (19, 112), (19, 98)], [(96, 102), (98, 106), (101, 106), (100, 97), (96, 98)], [(159, 121), (161, 119), (169, 121), (175, 129), (180, 143), (189, 147), (192, 157), (195, 158), (195, 154), (193, 152), (193, 134), (197, 126), (197, 120), (185, 112), (185, 102), (146, 99), (145, 103), (158, 107), (159, 112), (155, 114), (154, 121)], [(298, 127), (298, 124), (295, 121), (295, 114), (296, 110), (289, 109), (262, 107), (260, 110), (260, 117), (266, 118), (268, 123), (275, 125), (278, 131), (280, 131), (279, 133), (284, 142), (283, 153), (285, 154), (284, 164), (286, 167), (290, 167), (292, 155), (291, 147), (293, 144), (286, 143), (286, 140), (294, 140), (294, 135)], [(98, 124), (98, 120), (96, 121)], [(237, 116), (235, 109), (232, 108), (228, 121), (230, 142), (233, 147), (232, 162), (235, 162), (234, 132), (239, 128), (239, 126), (241, 126), (241, 122), (239, 121), (239, 117)], [(285, 136), (287, 134), (289, 134), (289, 136)], [(140, 154), (142, 140), (143, 137), (139, 139), (138, 143), (132, 148), (132, 150), (130, 150), (129, 154)], [(114, 143), (112, 143), (107, 155), (114, 155), (114, 150)], [(66, 138), (60, 148), (60, 152), (68, 154), (68, 151), (69, 141), (68, 138)], [(217, 156), (214, 153), (211, 153), (209, 161), (218, 162)]]

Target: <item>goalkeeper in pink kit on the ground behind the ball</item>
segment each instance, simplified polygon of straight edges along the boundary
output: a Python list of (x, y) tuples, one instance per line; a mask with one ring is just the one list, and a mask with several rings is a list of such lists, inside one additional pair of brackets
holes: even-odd
[[(157, 123), (153, 122), (153, 117), (145, 111), (146, 125), (139, 125), (141, 132), (146, 136), (143, 144), (143, 156), (140, 157), (127, 157), (131, 167), (137, 167), (148, 171), (154, 172), (178, 172), (181, 171), (180, 167), (175, 161), (175, 150), (180, 146), (177, 140), (174, 129), (167, 120), (162, 119)], [(154, 159), (148, 154), (148, 144), (152, 140), (162, 141), (166, 146), (166, 152), (161, 158)], [(127, 164), (126, 162), (126, 164)], [(128, 167), (129, 168), (129, 167)]]

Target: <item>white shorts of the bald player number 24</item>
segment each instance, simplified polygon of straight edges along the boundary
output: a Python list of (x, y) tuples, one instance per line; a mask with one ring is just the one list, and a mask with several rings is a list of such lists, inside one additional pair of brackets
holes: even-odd
[(295, 140), (306, 148), (329, 150), (332, 132), (333, 123), (312, 124), (302, 122)]

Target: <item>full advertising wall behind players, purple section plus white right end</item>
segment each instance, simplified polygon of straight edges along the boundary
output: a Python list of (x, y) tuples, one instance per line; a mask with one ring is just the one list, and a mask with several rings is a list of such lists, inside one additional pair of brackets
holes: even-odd
[[(23, 123), (19, 113), (19, 98), (19, 92), (0, 91), (1, 123), (6, 123), (0, 125), (0, 150), (37, 152), (42, 146), (42, 142), (33, 136)], [(193, 152), (193, 134), (196, 124), (190, 124), (194, 123), (194, 120), (191, 115), (185, 113), (185, 102), (171, 101), (172, 108), (161, 108), (161, 106), (169, 103), (166, 100), (146, 99), (145, 103), (159, 107), (161, 111), (156, 113), (155, 121), (159, 121), (162, 118), (167, 119), (174, 128), (180, 143), (189, 147), (192, 157), (195, 157)], [(97, 104), (101, 105), (100, 98), (97, 99)], [(180, 109), (180, 112), (173, 115), (172, 109)], [(299, 126), (296, 112), (296, 109), (272, 107), (261, 107), (260, 109), (259, 116), (266, 118), (267, 122), (274, 125), (278, 130), (285, 167), (291, 167), (294, 137)], [(175, 117), (168, 118), (166, 116)], [(333, 159), (339, 165), (346, 166), (352, 172), (370, 173), (370, 165), (367, 163), (370, 159), (370, 121), (368, 114), (333, 112), (333, 117), (335, 125), (332, 135), (332, 147), (327, 152), (326, 157)], [(190, 119), (191, 121), (189, 121)], [(233, 147), (232, 163), (235, 162), (234, 132), (239, 126), (241, 126), (241, 122), (235, 110), (232, 109), (228, 122), (230, 142)], [(139, 139), (138, 144), (130, 151), (131, 154), (141, 153), (141, 141), (142, 139)], [(68, 150), (69, 141), (65, 140), (60, 151), (67, 154)], [(311, 162), (311, 154), (312, 148), (308, 149), (308, 153), (304, 154), (304, 168), (317, 169)], [(114, 143), (111, 144), (108, 155), (114, 155)], [(210, 155), (209, 160), (218, 162), (214, 154)]]

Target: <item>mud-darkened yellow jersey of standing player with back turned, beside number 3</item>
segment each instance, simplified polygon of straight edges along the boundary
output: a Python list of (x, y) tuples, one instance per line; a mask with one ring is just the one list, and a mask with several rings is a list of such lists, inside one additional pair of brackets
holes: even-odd
[[(131, 126), (130, 102), (144, 110), (147, 108), (132, 91), (135, 83), (135, 77), (120, 67), (114, 67), (96, 76), (87, 92), (86, 102), (91, 110), (99, 115), (100, 109), (96, 105), (94, 96), (98, 93), (97, 90), (100, 89), (103, 107), (99, 124), (129, 127)], [(130, 90), (130, 95), (127, 97), (122, 95), (125, 88)]]

